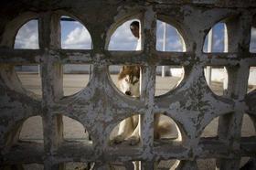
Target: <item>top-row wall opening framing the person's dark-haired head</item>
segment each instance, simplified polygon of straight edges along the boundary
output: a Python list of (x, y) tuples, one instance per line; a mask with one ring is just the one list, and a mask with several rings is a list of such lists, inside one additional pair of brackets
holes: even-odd
[(141, 24), (138, 19), (125, 21), (117, 27), (111, 38), (108, 50), (134, 51), (141, 50)]

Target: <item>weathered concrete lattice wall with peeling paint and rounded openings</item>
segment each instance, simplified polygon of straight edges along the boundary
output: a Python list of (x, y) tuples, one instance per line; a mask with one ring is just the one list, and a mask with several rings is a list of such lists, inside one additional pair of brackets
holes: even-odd
[[(154, 161), (180, 159), (177, 169), (197, 169), (197, 159), (215, 158), (220, 169), (238, 169), (242, 156), (256, 153), (255, 136), (241, 137), (244, 113), (255, 126), (255, 90), (247, 94), (249, 68), (256, 66), (249, 52), (251, 26), (255, 27), (255, 1), (4, 1), (0, 6), (0, 165), (44, 164), (63, 169), (66, 162), (95, 162), (108, 169), (110, 162), (154, 169)], [(87, 27), (93, 49), (60, 49), (60, 16), (71, 16)], [(14, 50), (16, 32), (38, 18), (39, 50)], [(116, 27), (129, 18), (142, 23), (142, 51), (107, 51)], [(185, 40), (186, 52), (155, 50), (156, 19), (173, 25)], [(208, 30), (217, 22), (228, 29), (228, 53), (202, 52)], [(28, 58), (26, 58), (28, 56)], [(42, 98), (23, 89), (13, 65), (40, 64)], [(92, 77), (80, 92), (63, 97), (62, 64), (92, 64)], [(142, 65), (141, 97), (131, 99), (112, 86), (108, 65)], [(155, 66), (180, 65), (185, 78), (167, 94), (155, 98)], [(229, 85), (225, 96), (215, 95), (204, 77), (204, 67), (225, 66)], [(181, 141), (154, 141), (154, 114), (165, 113), (177, 124)], [(111, 146), (112, 129), (124, 118), (140, 114), (141, 143)], [(39, 115), (44, 143), (21, 143), (22, 122)], [(92, 143), (63, 140), (62, 116), (80, 122)], [(202, 138), (208, 123), (219, 117), (218, 137)], [(8, 168), (8, 167), (7, 167)]]

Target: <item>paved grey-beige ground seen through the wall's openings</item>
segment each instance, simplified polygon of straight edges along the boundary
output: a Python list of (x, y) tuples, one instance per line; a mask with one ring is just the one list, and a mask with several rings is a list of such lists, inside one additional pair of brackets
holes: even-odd
[[(37, 74), (27, 74), (19, 73), (18, 74), (22, 84), (27, 90), (31, 90), (39, 95), (41, 95), (41, 81)], [(64, 95), (71, 95), (75, 92), (78, 92), (82, 88), (86, 87), (88, 83), (88, 75), (83, 74), (65, 74), (63, 80), (64, 86)], [(117, 80), (116, 75), (112, 75), (112, 80), (115, 83)], [(176, 85), (176, 82), (179, 78), (166, 77), (162, 78), (160, 76), (156, 77), (156, 95), (163, 94), (168, 90), (171, 90)], [(169, 88), (170, 87), (170, 88)], [(213, 82), (211, 89), (221, 95), (222, 93), (222, 84)], [(84, 140), (87, 139), (87, 133), (84, 133), (83, 127), (80, 122), (76, 122), (68, 117), (64, 116), (64, 138), (67, 140)], [(202, 136), (216, 136), (218, 128), (218, 118), (210, 122), (205, 129)], [(33, 131), (31, 131), (33, 130)], [(244, 115), (243, 124), (242, 124), (242, 136), (251, 136), (255, 135), (253, 124), (251, 119), (247, 114)], [(42, 132), (42, 122), (39, 116), (29, 118), (23, 126), (22, 132), (20, 134), (20, 139), (28, 141), (37, 141), (42, 142), (43, 132)], [(246, 160), (247, 158), (245, 158)], [(243, 161), (244, 162), (244, 161)], [(243, 163), (242, 163), (243, 164)], [(214, 159), (208, 160), (198, 160), (198, 167), (200, 170), (213, 170), (215, 165)], [(171, 162), (162, 162), (159, 169), (166, 169), (166, 167), (171, 166)], [(78, 164), (69, 164), (67, 169), (78, 169), (76, 167), (82, 167)], [(26, 166), (26, 169), (43, 169), (41, 165), (29, 165)]]

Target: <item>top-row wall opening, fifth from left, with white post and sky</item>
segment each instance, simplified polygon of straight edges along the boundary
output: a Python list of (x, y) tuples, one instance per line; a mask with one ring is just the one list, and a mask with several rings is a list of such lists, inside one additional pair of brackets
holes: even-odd
[(209, 30), (203, 52), (228, 52), (228, 32), (225, 23), (218, 23)]

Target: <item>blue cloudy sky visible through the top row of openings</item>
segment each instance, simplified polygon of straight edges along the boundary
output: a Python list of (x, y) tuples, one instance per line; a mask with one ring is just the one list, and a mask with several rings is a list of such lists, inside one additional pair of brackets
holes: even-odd
[[(133, 20), (123, 23), (113, 33), (109, 50), (135, 50), (137, 39), (130, 31)], [(61, 48), (91, 49), (91, 36), (86, 27), (78, 21), (60, 21), (61, 26)], [(179, 36), (175, 27), (157, 20), (156, 26), (156, 50), (163, 51), (165, 31), (165, 51), (183, 51), (183, 38)], [(218, 23), (213, 28), (212, 52), (223, 52), (224, 50), (224, 24)], [(38, 48), (38, 23), (37, 20), (28, 21), (18, 30), (15, 48)], [(203, 51), (207, 52), (208, 36), (206, 37)], [(251, 52), (256, 52), (256, 28), (251, 28)]]

